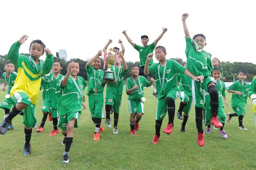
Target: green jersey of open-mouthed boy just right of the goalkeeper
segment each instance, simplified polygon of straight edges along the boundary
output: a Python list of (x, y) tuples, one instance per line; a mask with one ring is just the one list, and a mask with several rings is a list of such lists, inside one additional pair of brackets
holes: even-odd
[(51, 107), (55, 109), (58, 108), (58, 103), (62, 95), (62, 89), (59, 87), (59, 83), (62, 77), (63, 75), (59, 73), (57, 77), (54, 78), (54, 73), (49, 73), (44, 75), (42, 78), (42, 82), (45, 82), (44, 101), (49, 101), (51, 103)]

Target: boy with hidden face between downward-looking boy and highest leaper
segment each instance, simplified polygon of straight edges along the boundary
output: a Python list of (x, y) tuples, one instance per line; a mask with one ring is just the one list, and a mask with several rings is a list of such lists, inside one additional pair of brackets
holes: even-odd
[[(184, 67), (187, 68), (187, 63), (184, 64)], [(181, 99), (180, 107), (177, 111), (178, 119), (182, 118), (183, 112), (183, 122), (181, 123), (181, 132), (185, 132), (185, 126), (188, 120), (188, 114), (191, 109), (192, 103), (192, 93), (191, 93), (191, 83), (192, 79), (188, 77), (186, 74), (177, 73), (177, 80), (180, 81), (179, 85), (179, 97)]]

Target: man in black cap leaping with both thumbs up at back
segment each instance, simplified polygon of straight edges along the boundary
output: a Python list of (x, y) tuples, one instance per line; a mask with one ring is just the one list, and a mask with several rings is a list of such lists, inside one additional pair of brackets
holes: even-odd
[[(147, 35), (142, 35), (141, 36), (141, 43), (143, 46), (139, 46), (135, 43), (133, 43), (133, 41), (131, 40), (131, 38), (126, 34), (126, 30), (123, 31), (123, 34), (125, 35), (126, 39), (128, 40), (128, 42), (132, 45), (132, 47), (134, 49), (136, 49), (139, 54), (140, 54), (140, 68), (139, 68), (139, 72), (140, 72), (140, 75), (146, 75), (144, 73), (144, 66), (145, 66), (145, 62), (146, 62), (146, 59), (147, 59), (147, 54), (149, 53), (153, 53), (158, 41), (162, 38), (163, 34), (166, 33), (167, 31), (167, 28), (163, 28), (162, 27), (162, 32), (161, 34), (154, 40), (154, 42), (150, 45), (148, 45), (148, 36)], [(153, 59), (150, 61), (150, 65), (153, 64)], [(155, 74), (152, 74), (152, 77), (153, 79), (155, 79)], [(154, 92), (153, 92), (153, 95), (157, 98), (157, 90), (156, 90), (156, 86), (155, 86), (155, 89), (154, 89)]]

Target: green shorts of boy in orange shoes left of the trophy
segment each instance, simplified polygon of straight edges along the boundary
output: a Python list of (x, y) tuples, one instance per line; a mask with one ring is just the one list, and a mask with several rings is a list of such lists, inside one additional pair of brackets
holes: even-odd
[(92, 118), (105, 118), (104, 116), (104, 97), (103, 91), (100, 92), (89, 92), (88, 103)]

